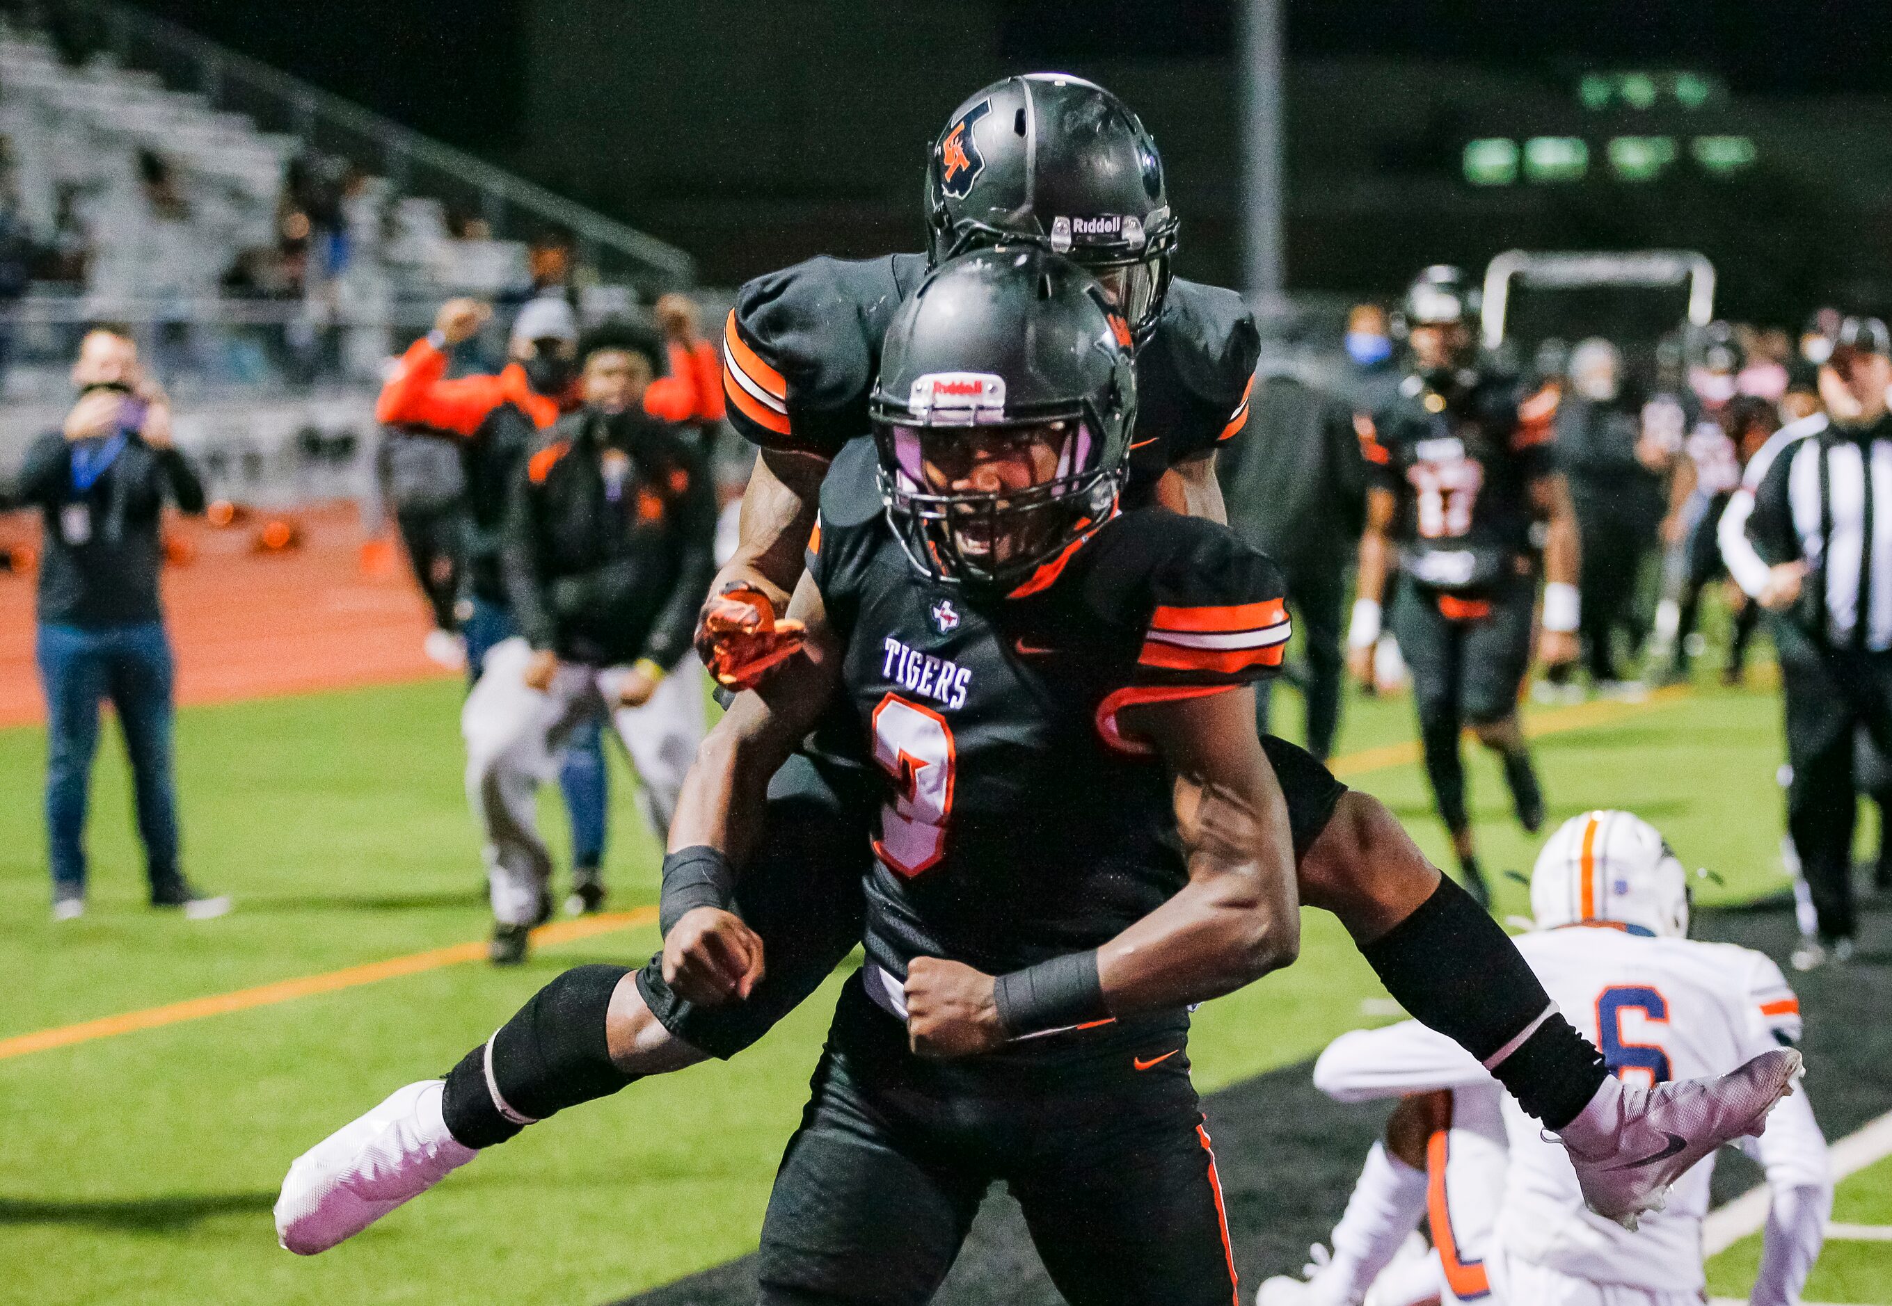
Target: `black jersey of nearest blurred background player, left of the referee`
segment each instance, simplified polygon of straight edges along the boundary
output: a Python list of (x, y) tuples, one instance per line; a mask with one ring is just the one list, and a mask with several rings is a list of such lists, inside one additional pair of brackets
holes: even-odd
[(1531, 567), (1531, 482), (1553, 471), (1557, 391), (1515, 376), (1421, 376), (1360, 420), (1370, 484), (1391, 490), (1400, 567), (1436, 590), (1480, 590)]

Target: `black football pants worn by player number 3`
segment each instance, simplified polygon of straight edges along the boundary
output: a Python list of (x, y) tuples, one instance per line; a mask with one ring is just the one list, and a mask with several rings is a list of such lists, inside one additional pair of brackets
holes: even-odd
[(929, 1062), (855, 977), (768, 1200), (762, 1306), (921, 1306), (993, 1183), (1071, 1306), (1239, 1302), (1181, 1019)]

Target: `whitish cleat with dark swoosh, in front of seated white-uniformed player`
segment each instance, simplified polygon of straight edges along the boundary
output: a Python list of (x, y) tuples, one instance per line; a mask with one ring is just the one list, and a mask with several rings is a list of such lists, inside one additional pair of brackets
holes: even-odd
[(1612, 1075), (1561, 1132), (1584, 1204), (1635, 1229), (1637, 1215), (1663, 1208), (1669, 1185), (1690, 1166), (1722, 1143), (1760, 1134), (1767, 1111), (1799, 1075), (1801, 1057), (1792, 1047), (1761, 1053), (1718, 1079), (1637, 1089)]

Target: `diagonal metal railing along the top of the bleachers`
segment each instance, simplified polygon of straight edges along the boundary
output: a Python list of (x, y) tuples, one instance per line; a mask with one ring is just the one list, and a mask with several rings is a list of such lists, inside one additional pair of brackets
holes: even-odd
[(643, 295), (681, 289), (694, 261), (675, 246), (554, 195), (464, 149), (443, 146), (248, 55), (117, 0), (62, 0), (96, 19), (104, 47), (127, 68), (142, 68), (214, 110), (250, 117), (308, 147), (341, 155), (388, 178), (397, 193), (429, 195), (482, 217), (499, 236), (532, 238), (560, 229), (577, 261), (602, 280), (628, 282)]

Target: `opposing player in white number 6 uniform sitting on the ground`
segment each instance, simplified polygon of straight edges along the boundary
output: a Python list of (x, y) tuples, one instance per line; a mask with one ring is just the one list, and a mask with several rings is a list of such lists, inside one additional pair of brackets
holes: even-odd
[[(1778, 966), (1686, 937), (1686, 873), (1629, 813), (1565, 822), (1538, 854), (1531, 905), (1538, 932), (1519, 951), (1627, 1083), (1714, 1074), (1799, 1038), (1799, 1004)], [(1676, 1181), (1665, 1210), (1627, 1230), (1585, 1211), (1563, 1149), (1506, 1108), (1470, 1057), (1415, 1022), (1341, 1036), (1315, 1064), (1315, 1083), (1343, 1102), (1404, 1100), (1334, 1229), (1332, 1257), (1319, 1257), (1307, 1280), (1264, 1283), (1260, 1306), (1703, 1300), (1712, 1157)], [(1790, 1306), (1820, 1253), (1833, 1194), (1805, 1092), (1743, 1147), (1773, 1194), (1750, 1300)], [(1400, 1257), (1421, 1211), (1434, 1251)]]

